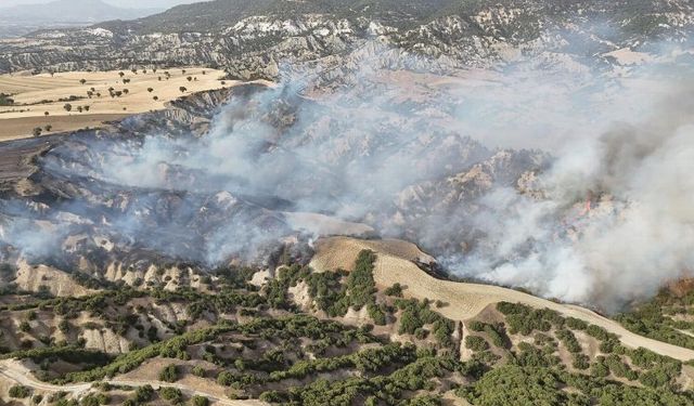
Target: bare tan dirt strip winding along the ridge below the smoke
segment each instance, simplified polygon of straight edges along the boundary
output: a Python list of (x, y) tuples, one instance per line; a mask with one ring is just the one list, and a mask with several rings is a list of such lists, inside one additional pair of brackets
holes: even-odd
[(348, 237), (324, 238), (317, 243), (316, 256), (311, 266), (321, 272), (338, 267), (350, 270), (359, 251), (370, 249), (378, 254), (375, 263), (374, 279), (378, 288), (395, 283), (406, 286), (404, 296), (415, 299), (441, 300), (447, 306), (437, 309), (453, 320), (470, 319), (489, 304), (501, 301), (516, 302), (534, 307), (549, 307), (565, 316), (580, 318), (587, 323), (603, 327), (619, 336), (621, 342), (630, 348), (644, 348), (655, 353), (680, 361), (694, 359), (694, 351), (645, 338), (625, 329), (618, 323), (595, 312), (575, 305), (560, 304), (540, 299), (513, 289), (498, 286), (463, 284), (436, 279), (420, 270), (412, 261), (427, 263), (432, 257), (423, 253), (413, 244), (402, 240), (361, 240)]

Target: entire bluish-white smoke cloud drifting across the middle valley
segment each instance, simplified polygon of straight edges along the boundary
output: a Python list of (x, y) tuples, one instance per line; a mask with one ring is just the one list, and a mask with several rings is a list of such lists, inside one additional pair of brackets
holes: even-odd
[[(203, 139), (100, 140), (86, 148), (99, 154), (89, 165), (66, 167), (50, 154), (42, 165), (139, 195), (112, 231), (179, 254), (181, 239), (202, 241), (209, 263), (282, 237), (250, 214), (205, 220), (210, 208), (247, 200), (278, 219), (296, 211), (362, 222), (420, 243), (454, 274), (607, 311), (692, 275), (689, 70), (518, 65), (440, 78), (363, 66), (331, 92), (288, 81), (234, 97)], [(485, 172), (496, 156), (512, 163)], [(522, 175), (531, 180), (523, 187)], [(481, 181), (454, 188), (473, 178)], [(143, 222), (171, 191), (178, 218)], [(207, 232), (191, 235), (191, 223)]]

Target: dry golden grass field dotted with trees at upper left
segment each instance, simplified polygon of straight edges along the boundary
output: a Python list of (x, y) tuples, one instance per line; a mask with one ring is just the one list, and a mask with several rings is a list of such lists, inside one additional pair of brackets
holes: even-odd
[[(165, 71), (170, 74), (168, 80)], [(15, 101), (14, 106), (0, 107), (0, 140), (27, 137), (34, 128), (47, 125), (52, 129), (44, 131), (44, 134), (95, 128), (127, 115), (163, 109), (166, 103), (182, 95), (240, 83), (226, 81), (222, 84), (223, 71), (205, 68), (157, 69), (156, 73), (147, 70), (146, 74), (139, 70), (137, 75), (123, 70), (123, 78), (119, 73), (69, 71), (54, 76), (25, 73), (0, 76), (0, 93), (11, 94)], [(82, 79), (86, 80), (83, 84), (80, 82)], [(124, 83), (124, 79), (130, 82)], [(187, 88), (185, 92), (181, 92), (181, 87)], [(128, 93), (112, 97), (111, 88), (114, 92), (127, 89)], [(91, 99), (89, 91), (93, 93)], [(70, 96), (83, 99), (65, 101)], [(72, 112), (64, 108), (65, 104), (73, 106)], [(79, 113), (78, 107), (85, 106), (89, 106), (89, 112)]]

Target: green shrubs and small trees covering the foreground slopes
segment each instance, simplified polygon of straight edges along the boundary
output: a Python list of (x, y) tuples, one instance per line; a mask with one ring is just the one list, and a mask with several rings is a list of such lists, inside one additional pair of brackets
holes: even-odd
[[(107, 379), (152, 358), (178, 358), (155, 371), (159, 380), (176, 382), (191, 370), (228, 387), (230, 398), (286, 405), (440, 405), (441, 393), (451, 389), (473, 405), (694, 405), (692, 393), (678, 387), (681, 363), (627, 349), (615, 335), (583, 320), (547, 309), (499, 303), (498, 313), (490, 309), (480, 314), (485, 318), (466, 322), (472, 333), (462, 344), (471, 351), (463, 351), (468, 361), (461, 362), (458, 325), (437, 312), (445, 303), (403, 299), (402, 287), (396, 285), (376, 291), (373, 252), (360, 252), (351, 273), (314, 273), (292, 264), (286, 252), (280, 257), (285, 265), (262, 288), (249, 284), (257, 270), (245, 267), (194, 276), (204, 289), (189, 285), (165, 290), (158, 283), (143, 280), (127, 288), (76, 275), (81, 284), (102, 291), (83, 298), (26, 293), (17, 304), (0, 307), (12, 312), (17, 326), (28, 325), (21, 336), (27, 350), (5, 351), (4, 356), (30, 358), (40, 366), (37, 377), (59, 384)], [(164, 272), (158, 276), (164, 280)], [(319, 311), (324, 311), (339, 317), (349, 309), (363, 309), (373, 323), (356, 328), (300, 314), (290, 294), (299, 284), (313, 300), (316, 314), (323, 316)], [(152, 323), (156, 305), (171, 304), (184, 309), (190, 320)], [(85, 312), (94, 320), (77, 323)], [(73, 337), (73, 342), (55, 342), (31, 331), (33, 325), (42, 328), (51, 317), (65, 333), (57, 337)], [(41, 331), (39, 327), (34, 330)], [(78, 329), (87, 328), (138, 333), (142, 344), (115, 357), (87, 351), (83, 340), (74, 338)], [(378, 336), (384, 330), (397, 330), (406, 342)], [(584, 337), (590, 342), (583, 342)], [(602, 354), (594, 356), (596, 345)], [(563, 356), (567, 352), (568, 362)], [(64, 363), (75, 369), (55, 372)], [(105, 394), (110, 389), (102, 384), (94, 389), (102, 392), (82, 397), (79, 406), (110, 401)], [(125, 400), (114, 396), (128, 406), (209, 404), (202, 396), (184, 397), (176, 388), (130, 391)], [(51, 402), (77, 406), (69, 396)]]

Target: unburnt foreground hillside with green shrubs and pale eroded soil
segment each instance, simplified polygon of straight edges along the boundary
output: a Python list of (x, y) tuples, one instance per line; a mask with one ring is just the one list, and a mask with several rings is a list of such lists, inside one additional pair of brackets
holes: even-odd
[[(472, 299), (485, 288), (472, 293), (463, 284), (448, 283), (422, 298), (413, 283), (430, 277), (411, 260), (432, 259), (414, 246), (319, 244), (326, 245), (331, 248), (319, 248), (313, 263), (336, 261), (332, 264), (348, 271), (283, 264), (262, 281), (258, 269), (201, 274), (179, 264), (126, 284), (73, 274), (76, 284), (92, 289), (80, 298), (4, 291), (0, 299), (15, 304), (0, 306), (5, 358), (0, 400), (17, 405), (43, 400), (60, 405), (621, 405), (626, 398), (694, 404), (687, 391), (693, 371), (658, 355), (671, 353), (667, 345), (641, 339), (641, 348), (590, 312), (496, 289), (461, 315), (461, 294), (454, 291)], [(404, 269), (409, 274), (398, 276)], [(3, 271), (3, 277), (11, 274)], [(394, 280), (407, 285), (384, 286)], [(676, 356), (687, 359), (692, 353), (680, 349)]]

